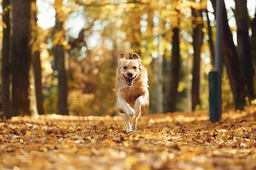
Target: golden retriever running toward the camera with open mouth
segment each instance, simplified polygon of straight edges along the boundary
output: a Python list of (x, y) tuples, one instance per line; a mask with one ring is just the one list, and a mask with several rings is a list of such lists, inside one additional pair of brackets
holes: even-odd
[[(148, 114), (149, 91), (148, 74), (142, 60), (136, 53), (126, 59), (124, 53), (117, 58), (116, 106), (126, 124), (126, 133), (137, 131), (137, 120), (141, 113)], [(132, 122), (130, 124), (130, 118)]]

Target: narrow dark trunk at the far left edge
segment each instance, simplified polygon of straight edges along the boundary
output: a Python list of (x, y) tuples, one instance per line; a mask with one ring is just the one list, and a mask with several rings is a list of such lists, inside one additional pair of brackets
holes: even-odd
[(2, 108), (5, 118), (11, 118), (10, 112), (10, 0), (3, 0), (3, 49), (2, 49)]

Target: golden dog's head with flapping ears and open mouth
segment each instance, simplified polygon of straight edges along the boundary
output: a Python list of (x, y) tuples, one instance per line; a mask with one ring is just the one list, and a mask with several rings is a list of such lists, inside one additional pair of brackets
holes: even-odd
[(124, 53), (119, 54), (116, 73), (123, 77), (128, 86), (133, 85), (134, 80), (139, 77), (142, 69), (142, 60), (136, 53), (132, 54), (132, 60), (126, 60)]

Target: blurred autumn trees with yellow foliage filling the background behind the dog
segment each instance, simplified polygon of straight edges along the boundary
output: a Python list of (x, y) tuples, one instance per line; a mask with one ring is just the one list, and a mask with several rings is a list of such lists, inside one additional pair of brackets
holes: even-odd
[[(225, 1), (223, 108), (243, 109), (255, 98), (255, 6)], [(164, 112), (206, 110), (214, 8), (215, 0), (2, 0), (2, 114), (115, 114), (120, 52), (140, 54), (148, 68), (151, 113), (157, 80)]]

